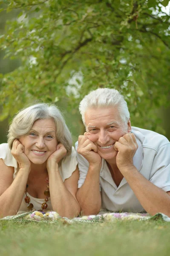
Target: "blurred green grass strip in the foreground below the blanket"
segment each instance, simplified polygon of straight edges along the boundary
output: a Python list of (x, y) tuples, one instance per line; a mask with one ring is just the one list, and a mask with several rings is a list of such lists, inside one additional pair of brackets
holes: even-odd
[(0, 221), (0, 256), (169, 256), (170, 223)]

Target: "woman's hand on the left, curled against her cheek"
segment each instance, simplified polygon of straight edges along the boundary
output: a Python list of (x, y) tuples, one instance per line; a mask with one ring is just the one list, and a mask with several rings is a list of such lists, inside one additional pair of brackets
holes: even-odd
[(11, 154), (17, 160), (19, 168), (29, 168), (31, 167), (31, 162), (28, 157), (24, 154), (24, 146), (15, 139), (12, 144)]

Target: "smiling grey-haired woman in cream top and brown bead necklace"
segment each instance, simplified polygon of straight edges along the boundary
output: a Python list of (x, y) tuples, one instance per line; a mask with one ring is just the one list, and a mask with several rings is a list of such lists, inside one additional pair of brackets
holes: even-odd
[(77, 216), (78, 178), (71, 134), (58, 108), (40, 103), (17, 113), (8, 143), (0, 145), (0, 217), (33, 209)]

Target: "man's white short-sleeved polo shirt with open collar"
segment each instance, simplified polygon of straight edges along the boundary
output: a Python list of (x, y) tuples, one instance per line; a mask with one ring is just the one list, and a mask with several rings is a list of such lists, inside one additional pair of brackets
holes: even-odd
[[(170, 191), (170, 142), (161, 134), (154, 131), (132, 127), (138, 149), (133, 157), (133, 164), (147, 180), (163, 189)], [(78, 142), (75, 143), (77, 150)], [(80, 188), (86, 178), (89, 163), (77, 153), (80, 178)], [(143, 212), (144, 208), (139, 203), (133, 190), (126, 179), (123, 178), (117, 187), (107, 166), (102, 159), (100, 172), (100, 186), (102, 208), (110, 211)]]

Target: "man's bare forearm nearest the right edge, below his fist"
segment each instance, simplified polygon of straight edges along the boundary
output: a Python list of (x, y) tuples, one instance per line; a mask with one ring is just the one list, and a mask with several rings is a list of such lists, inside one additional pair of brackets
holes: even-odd
[(151, 215), (161, 212), (170, 217), (170, 196), (155, 186), (133, 166), (120, 170), (142, 207)]

